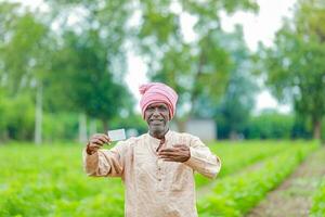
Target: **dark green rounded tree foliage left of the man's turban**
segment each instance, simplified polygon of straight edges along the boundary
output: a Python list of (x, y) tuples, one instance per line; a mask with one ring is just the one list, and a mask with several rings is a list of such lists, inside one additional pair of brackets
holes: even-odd
[(114, 81), (114, 75), (107, 68), (108, 51), (102, 50), (105, 44), (99, 34), (98, 30), (82, 36), (67, 33), (64, 36), (66, 44), (57, 52), (61, 58), (56, 59), (53, 69), (56, 73), (52, 76), (61, 82), (61, 92), (66, 93), (70, 103), (67, 105), (74, 111), (108, 120), (118, 114), (130, 95), (122, 85)]

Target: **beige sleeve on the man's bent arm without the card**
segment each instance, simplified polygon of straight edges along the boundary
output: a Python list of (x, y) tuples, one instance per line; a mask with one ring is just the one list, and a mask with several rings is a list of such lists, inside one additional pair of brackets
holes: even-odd
[(186, 164), (199, 174), (214, 178), (221, 168), (221, 161), (218, 156), (211, 153), (199, 138), (193, 137), (190, 141), (191, 157)]

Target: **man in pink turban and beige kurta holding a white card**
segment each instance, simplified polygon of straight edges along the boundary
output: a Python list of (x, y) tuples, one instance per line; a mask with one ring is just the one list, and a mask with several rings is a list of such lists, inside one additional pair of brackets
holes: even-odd
[(94, 135), (83, 151), (89, 176), (121, 177), (126, 184), (127, 217), (196, 217), (196, 170), (216, 177), (221, 163), (199, 140), (169, 129), (178, 94), (152, 82), (140, 87), (142, 116), (148, 132), (120, 141), (113, 149), (107, 135)]

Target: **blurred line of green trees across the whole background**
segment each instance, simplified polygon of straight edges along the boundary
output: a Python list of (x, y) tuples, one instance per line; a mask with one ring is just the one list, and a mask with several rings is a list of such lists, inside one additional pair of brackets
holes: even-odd
[[(145, 61), (150, 80), (167, 82), (179, 93), (174, 122), (180, 130), (193, 117), (212, 118), (224, 138), (255, 138), (248, 132), (255, 123), (256, 80), (265, 77), (280, 101), (294, 104), (292, 118), (302, 123), (303, 132), (321, 138), (324, 3), (298, 1), (274, 46), (261, 44), (256, 53), (240, 26), (222, 29), (220, 13), (237, 11), (257, 13), (258, 4), (47, 0), (31, 10), (1, 2), (0, 141), (41, 143), (76, 133), (82, 141), (87, 131), (121, 126), (145, 131), (125, 82), (128, 69), (136, 73), (127, 65), (130, 51)], [(186, 17), (192, 39), (183, 29)]]

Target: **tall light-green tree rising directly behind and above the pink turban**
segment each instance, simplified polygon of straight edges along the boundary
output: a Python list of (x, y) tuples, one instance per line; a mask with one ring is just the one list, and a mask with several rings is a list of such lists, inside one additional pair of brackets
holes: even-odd
[[(227, 50), (221, 46), (219, 12), (256, 10), (253, 1), (140, 1), (136, 31), (140, 53), (152, 80), (164, 81), (179, 93), (176, 118), (182, 131), (202, 94), (213, 102), (222, 95), (231, 69)], [(196, 39), (187, 41), (181, 20), (194, 18)]]

